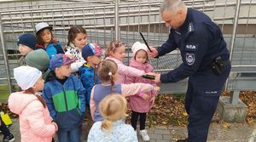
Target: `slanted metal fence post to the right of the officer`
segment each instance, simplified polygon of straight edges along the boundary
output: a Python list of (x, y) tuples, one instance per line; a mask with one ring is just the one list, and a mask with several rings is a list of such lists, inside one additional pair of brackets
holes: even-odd
[[(238, 18), (239, 18), (239, 13), (240, 13), (240, 6), (241, 6), (241, 0), (236, 0), (236, 13), (235, 13), (235, 19), (234, 19), (234, 24), (233, 24), (233, 31), (232, 31), (232, 36), (231, 36), (231, 41), (230, 41), (230, 62), (232, 63), (232, 58), (233, 58), (233, 52), (234, 52), (234, 45), (235, 45), (235, 40), (236, 40), (236, 27), (238, 25)], [(229, 80), (230, 77), (227, 79), (225, 83), (225, 90), (227, 90), (228, 85), (229, 85)], [(233, 95), (230, 97), (230, 103), (235, 105), (237, 104), (239, 99), (239, 95)]]

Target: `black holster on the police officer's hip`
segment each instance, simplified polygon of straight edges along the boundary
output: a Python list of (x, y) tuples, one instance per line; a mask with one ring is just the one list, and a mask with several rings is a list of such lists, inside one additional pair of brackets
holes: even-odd
[(211, 69), (215, 75), (220, 75), (224, 71), (224, 60), (218, 56), (212, 61)]

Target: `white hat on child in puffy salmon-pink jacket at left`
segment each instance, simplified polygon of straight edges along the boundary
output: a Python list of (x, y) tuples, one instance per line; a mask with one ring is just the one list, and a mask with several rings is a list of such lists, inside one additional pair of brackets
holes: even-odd
[(15, 80), (22, 90), (32, 88), (38, 79), (42, 76), (42, 72), (38, 69), (22, 65), (14, 69)]

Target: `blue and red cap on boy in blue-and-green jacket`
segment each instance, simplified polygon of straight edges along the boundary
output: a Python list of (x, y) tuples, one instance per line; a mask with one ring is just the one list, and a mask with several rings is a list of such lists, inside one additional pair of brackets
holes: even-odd
[(55, 54), (55, 56), (53, 56), (51, 60), (49, 60), (49, 69), (51, 71), (55, 71), (55, 68), (61, 67), (62, 65), (71, 64), (75, 60), (77, 59), (76, 58), (71, 59), (66, 54)]

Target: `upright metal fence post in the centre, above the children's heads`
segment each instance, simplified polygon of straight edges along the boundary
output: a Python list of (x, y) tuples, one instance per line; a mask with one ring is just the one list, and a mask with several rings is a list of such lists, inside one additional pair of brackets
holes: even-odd
[(119, 0), (115, 0), (114, 3), (114, 37), (119, 41)]

